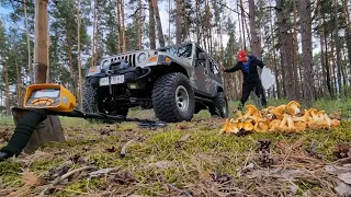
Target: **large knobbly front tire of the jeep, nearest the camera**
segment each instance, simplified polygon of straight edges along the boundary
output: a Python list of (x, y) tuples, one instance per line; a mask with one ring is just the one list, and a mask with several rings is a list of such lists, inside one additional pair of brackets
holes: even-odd
[[(179, 97), (182, 97), (182, 95), (188, 97), (188, 104), (181, 104), (182, 101), (184, 101), (183, 103), (186, 102), (185, 99), (177, 101), (177, 91)], [(186, 76), (172, 72), (158, 78), (154, 83), (152, 105), (156, 117), (162, 121), (191, 120), (195, 111), (195, 96)], [(182, 106), (184, 106), (184, 111), (180, 109)]]

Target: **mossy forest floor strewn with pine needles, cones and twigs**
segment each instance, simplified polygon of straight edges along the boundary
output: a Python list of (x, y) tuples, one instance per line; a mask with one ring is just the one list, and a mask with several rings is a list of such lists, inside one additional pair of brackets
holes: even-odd
[[(66, 142), (0, 163), (0, 196), (351, 195), (346, 118), (332, 130), (241, 137), (219, 135), (224, 121), (196, 115), (147, 129), (65, 117)], [(13, 129), (10, 120), (1, 124), (0, 147)]]

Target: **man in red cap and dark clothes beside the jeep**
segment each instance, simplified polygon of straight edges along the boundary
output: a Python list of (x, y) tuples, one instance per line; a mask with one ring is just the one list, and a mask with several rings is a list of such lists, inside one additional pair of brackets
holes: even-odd
[(257, 66), (259, 66), (261, 69), (263, 67), (267, 67), (267, 65), (262, 60), (253, 55), (247, 55), (245, 50), (240, 50), (238, 53), (238, 62), (236, 63), (236, 66), (228, 69), (223, 65), (220, 66), (220, 69), (224, 72), (236, 72), (238, 70), (241, 70), (244, 74), (242, 95), (240, 99), (241, 104), (239, 106), (239, 109), (242, 109), (245, 103), (249, 99), (251, 91), (254, 91), (256, 95), (258, 97), (261, 97), (262, 106), (267, 107), (267, 100)]

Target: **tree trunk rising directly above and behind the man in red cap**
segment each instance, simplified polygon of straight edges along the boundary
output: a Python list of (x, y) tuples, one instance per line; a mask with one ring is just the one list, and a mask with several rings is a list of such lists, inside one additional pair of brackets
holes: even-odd
[(251, 49), (254, 56), (262, 59), (262, 48), (260, 45), (260, 39), (258, 37), (258, 31), (256, 26), (256, 5), (254, 0), (249, 0), (249, 15), (250, 15), (250, 34), (251, 34)]

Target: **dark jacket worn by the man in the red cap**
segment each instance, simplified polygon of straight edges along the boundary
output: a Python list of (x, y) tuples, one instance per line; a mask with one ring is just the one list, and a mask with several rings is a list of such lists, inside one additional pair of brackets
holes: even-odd
[(244, 74), (244, 82), (247, 83), (254, 83), (257, 81), (260, 81), (259, 72), (257, 70), (257, 66), (259, 66), (261, 69), (265, 66), (262, 60), (258, 59), (253, 55), (249, 55), (249, 73), (244, 69), (244, 65), (241, 61), (238, 61), (236, 66), (233, 68), (226, 69), (225, 72), (236, 72), (238, 70), (241, 70)]

